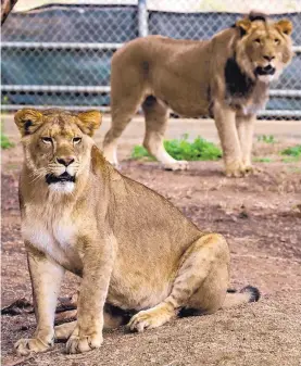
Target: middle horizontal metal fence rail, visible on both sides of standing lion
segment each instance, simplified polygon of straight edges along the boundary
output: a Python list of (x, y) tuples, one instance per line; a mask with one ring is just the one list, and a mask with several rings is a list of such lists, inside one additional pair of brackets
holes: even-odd
[[(109, 93), (110, 86), (68, 86), (68, 85), (2, 85), (2, 91), (45, 91), (45, 92), (88, 92)], [(271, 97), (301, 98), (301, 90), (269, 90)]]

